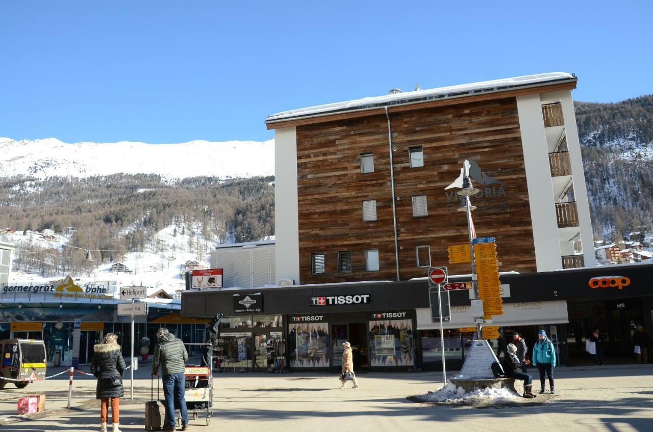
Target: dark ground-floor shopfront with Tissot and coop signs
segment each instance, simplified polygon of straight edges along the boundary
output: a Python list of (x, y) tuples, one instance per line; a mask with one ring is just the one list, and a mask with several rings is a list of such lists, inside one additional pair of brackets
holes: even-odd
[[(612, 282), (615, 275), (621, 278), (622, 288)], [(464, 280), (450, 277), (450, 281)], [(624, 332), (631, 320), (651, 333), (650, 280), (650, 265), (502, 275), (504, 315), (494, 317), (493, 324), (501, 326), (505, 335), (513, 330), (533, 333), (528, 335), (528, 345), (538, 329), (547, 330), (562, 364), (574, 363), (571, 345), (580, 333), (579, 343), (584, 344), (584, 333), (596, 325), (603, 326), (608, 350), (623, 351), (629, 348)], [(468, 292), (451, 292), (451, 305), (451, 321), (445, 322), (445, 359), (455, 368), (462, 365), (474, 337), (460, 331), (473, 326)], [(439, 325), (431, 322), (428, 307), (428, 286), (422, 280), (182, 295), (183, 316), (225, 316), (221, 322), (221, 338), (227, 344), (224, 365), (238, 363), (254, 370), (266, 365), (263, 347), (269, 338), (283, 339), (293, 370), (339, 368), (344, 341), (353, 345), (359, 370), (438, 369)], [(490, 343), (498, 345), (497, 340)]]

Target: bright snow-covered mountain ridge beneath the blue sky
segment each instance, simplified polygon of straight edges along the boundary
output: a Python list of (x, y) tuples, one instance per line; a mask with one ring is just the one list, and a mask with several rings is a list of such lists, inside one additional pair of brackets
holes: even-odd
[(67, 144), (56, 138), (0, 138), (0, 177), (24, 175), (43, 179), (117, 173), (159, 174), (166, 179), (270, 176), (274, 175), (274, 140)]

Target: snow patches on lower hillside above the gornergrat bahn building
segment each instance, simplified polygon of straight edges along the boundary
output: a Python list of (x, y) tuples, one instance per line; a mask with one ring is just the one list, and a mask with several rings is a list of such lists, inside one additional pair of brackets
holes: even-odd
[[(119, 262), (125, 264), (131, 273), (111, 271), (111, 266), (116, 262), (97, 263), (97, 266), (91, 270), (90, 275), (84, 274), (74, 277), (76, 283), (86, 284), (93, 281), (117, 281), (118, 286), (129, 285), (146, 285), (155, 289), (163, 289), (173, 294), (175, 290), (183, 289), (184, 281), (181, 271), (185, 267), (186, 261), (197, 261), (200, 266), (210, 267), (210, 251), (214, 248), (214, 242), (204, 239), (201, 234), (195, 234), (191, 237), (189, 232), (183, 236), (180, 229), (177, 235), (174, 235), (174, 225), (167, 226), (159, 231), (157, 236), (153, 237), (151, 244), (142, 252), (130, 252)], [(25, 236), (21, 232), (14, 233), (14, 243), (27, 241), (29, 243), (40, 245), (41, 247), (55, 249), (66, 245), (69, 239), (66, 236), (56, 235), (56, 240), (46, 241), (41, 238), (40, 234), (27, 232)], [(192, 242), (191, 242), (192, 239)], [(157, 247), (156, 243), (159, 241)], [(189, 250), (189, 243), (192, 243), (192, 252)], [(198, 259), (198, 249), (202, 259)], [(72, 245), (71, 245), (72, 246)], [(157, 251), (155, 251), (157, 248)], [(98, 260), (98, 256), (93, 256)], [(14, 256), (14, 260), (16, 256)], [(13, 266), (11, 274), (11, 283), (47, 283), (48, 281), (63, 279), (66, 274), (50, 275), (43, 277), (34, 273), (25, 273), (25, 271), (16, 270)]]

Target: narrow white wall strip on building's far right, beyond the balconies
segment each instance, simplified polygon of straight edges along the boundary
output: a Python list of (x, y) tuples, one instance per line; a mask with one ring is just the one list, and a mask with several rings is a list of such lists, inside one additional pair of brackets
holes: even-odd
[(596, 267), (590, 202), (587, 198), (587, 185), (585, 184), (585, 173), (582, 167), (581, 142), (578, 138), (578, 127), (576, 125), (573, 99), (571, 99), (571, 90), (547, 93), (547, 98), (558, 99), (562, 105), (562, 117), (564, 118), (565, 131), (567, 132), (569, 162), (571, 162), (571, 176), (573, 177), (573, 191), (576, 198), (579, 224), (581, 225), (582, 258), (585, 267)]

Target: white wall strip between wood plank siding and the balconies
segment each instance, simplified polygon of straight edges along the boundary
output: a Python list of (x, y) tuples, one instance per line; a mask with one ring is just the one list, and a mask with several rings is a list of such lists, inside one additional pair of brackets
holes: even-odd
[(537, 271), (562, 269), (549, 150), (539, 95), (517, 97)]

